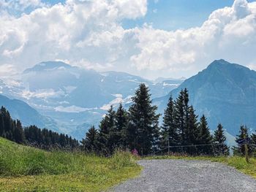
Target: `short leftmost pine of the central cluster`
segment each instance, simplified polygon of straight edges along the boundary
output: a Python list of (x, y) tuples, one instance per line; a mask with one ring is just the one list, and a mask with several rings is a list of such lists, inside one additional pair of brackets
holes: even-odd
[(97, 137), (98, 131), (94, 126), (89, 128), (88, 132), (86, 133), (86, 138), (82, 140), (82, 149), (86, 150), (87, 152), (97, 152)]

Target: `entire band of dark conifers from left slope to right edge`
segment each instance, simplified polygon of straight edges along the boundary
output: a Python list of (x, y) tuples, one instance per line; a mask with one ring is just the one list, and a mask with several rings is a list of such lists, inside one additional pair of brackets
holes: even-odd
[[(211, 134), (206, 116), (198, 118), (192, 105), (189, 105), (187, 88), (181, 90), (176, 100), (170, 96), (162, 126), (159, 126), (159, 117), (148, 87), (140, 84), (128, 110), (121, 103), (117, 110), (111, 106), (100, 121), (99, 128), (91, 126), (80, 143), (67, 134), (47, 128), (23, 127), (20, 120), (12, 120), (4, 107), (0, 110), (0, 137), (46, 150), (53, 147), (79, 148), (99, 155), (111, 155), (116, 149), (136, 150), (140, 155), (159, 151), (188, 155), (229, 155), (222, 124), (219, 123), (214, 134)], [(256, 155), (256, 134), (249, 135), (248, 132), (246, 126), (241, 126), (236, 142), (249, 138), (249, 155)], [(244, 155), (244, 145), (232, 149), (235, 155)]]

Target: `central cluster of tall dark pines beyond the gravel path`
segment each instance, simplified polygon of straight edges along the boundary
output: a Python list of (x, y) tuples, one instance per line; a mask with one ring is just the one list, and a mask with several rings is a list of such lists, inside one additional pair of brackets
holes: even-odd
[(189, 155), (229, 154), (224, 128), (219, 123), (211, 135), (206, 116), (198, 120), (194, 108), (189, 105), (186, 88), (176, 100), (170, 96), (162, 126), (159, 126), (159, 116), (157, 106), (152, 105), (149, 89), (140, 84), (128, 110), (124, 110), (122, 104), (116, 111), (111, 106), (99, 123), (99, 129), (94, 126), (89, 129), (81, 142), (83, 150), (104, 155), (111, 155), (117, 148), (135, 149), (140, 155), (159, 150)]

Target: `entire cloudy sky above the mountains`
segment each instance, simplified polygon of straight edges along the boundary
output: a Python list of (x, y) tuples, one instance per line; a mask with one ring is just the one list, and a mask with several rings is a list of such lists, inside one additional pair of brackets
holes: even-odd
[(256, 2), (0, 0), (0, 77), (42, 61), (154, 79), (223, 58), (256, 69)]

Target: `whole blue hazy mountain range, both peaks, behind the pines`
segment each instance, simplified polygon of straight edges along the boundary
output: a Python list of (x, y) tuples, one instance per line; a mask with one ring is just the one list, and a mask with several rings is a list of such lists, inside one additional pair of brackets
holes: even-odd
[(198, 115), (206, 115), (212, 130), (222, 123), (230, 140), (241, 124), (255, 131), (256, 72), (222, 59), (187, 80), (154, 81), (124, 72), (80, 69), (61, 61), (42, 62), (0, 80), (0, 93), (4, 95), (0, 105), (23, 122), (81, 139), (89, 126), (98, 125), (111, 104), (115, 107), (122, 102), (129, 107), (141, 82), (150, 88), (161, 114), (170, 95), (175, 99), (181, 89), (187, 88), (190, 104)]

